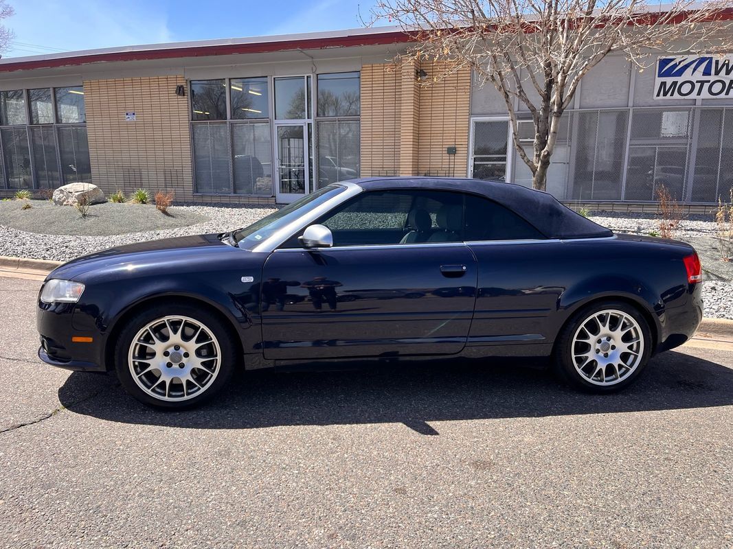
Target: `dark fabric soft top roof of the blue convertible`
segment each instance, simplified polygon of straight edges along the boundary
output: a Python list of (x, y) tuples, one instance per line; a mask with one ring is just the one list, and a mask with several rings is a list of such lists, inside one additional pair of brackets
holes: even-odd
[(353, 179), (364, 190), (460, 190), (490, 198), (534, 225), (551, 239), (612, 236), (613, 233), (563, 206), (553, 195), (512, 183), (443, 177), (370, 177)]

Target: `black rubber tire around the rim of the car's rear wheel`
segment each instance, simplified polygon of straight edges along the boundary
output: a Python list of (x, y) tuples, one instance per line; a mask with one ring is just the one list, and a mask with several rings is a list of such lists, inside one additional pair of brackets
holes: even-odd
[[(633, 318), (633, 321), (638, 325), (641, 338), (643, 338), (643, 351), (640, 354), (636, 367), (634, 367), (630, 373), (627, 373), (627, 375), (622, 375), (617, 378), (619, 381), (614, 381), (614, 378), (612, 378), (611, 381), (613, 384), (608, 385), (597, 384), (597, 380), (594, 383), (589, 381), (587, 376), (581, 375), (575, 367), (575, 359), (572, 349), (573, 338), (581, 325), (584, 324), (592, 315), (604, 310), (620, 311), (624, 313), (624, 315)], [(649, 357), (652, 355), (653, 343), (654, 341), (652, 339), (652, 332), (649, 329), (649, 323), (646, 318), (644, 318), (644, 315), (642, 315), (636, 307), (633, 307), (633, 305), (612, 300), (592, 303), (587, 307), (581, 308), (581, 310), (578, 310), (577, 313), (572, 315), (570, 320), (567, 321), (561, 329), (557, 336), (556, 346), (553, 353), (553, 369), (563, 381), (566, 381), (570, 385), (586, 392), (605, 394), (620, 391), (630, 384), (633, 384), (638, 376), (640, 376), (644, 371), (644, 368), (649, 362)], [(595, 343), (592, 343), (592, 346), (595, 346)], [(592, 364), (590, 365), (590, 368), (593, 368)], [(586, 372), (590, 372), (590, 369), (586, 370)]]

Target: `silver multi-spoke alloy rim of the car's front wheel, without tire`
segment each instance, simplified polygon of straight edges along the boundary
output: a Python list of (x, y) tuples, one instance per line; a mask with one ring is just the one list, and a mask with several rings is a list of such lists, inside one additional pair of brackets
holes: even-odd
[(218, 376), (221, 349), (205, 324), (188, 316), (164, 316), (144, 326), (130, 343), (128, 365), (148, 395), (180, 402), (201, 395)]

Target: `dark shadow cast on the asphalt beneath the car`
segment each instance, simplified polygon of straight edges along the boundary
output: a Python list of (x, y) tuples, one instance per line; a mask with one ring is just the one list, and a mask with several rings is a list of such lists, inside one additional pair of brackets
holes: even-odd
[(176, 412), (143, 406), (114, 376), (72, 373), (59, 400), (76, 414), (141, 425), (250, 429), (401, 422), (437, 435), (427, 422), (729, 406), (733, 370), (668, 351), (652, 359), (636, 384), (613, 395), (577, 392), (546, 369), (469, 360), (338, 372), (260, 371), (235, 376), (212, 403)]

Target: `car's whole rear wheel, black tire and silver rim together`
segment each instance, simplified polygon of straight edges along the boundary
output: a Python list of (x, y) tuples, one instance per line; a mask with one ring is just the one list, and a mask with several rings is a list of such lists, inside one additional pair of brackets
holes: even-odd
[(613, 392), (633, 383), (649, 362), (652, 335), (639, 311), (603, 302), (576, 313), (559, 335), (556, 370), (591, 392)]

